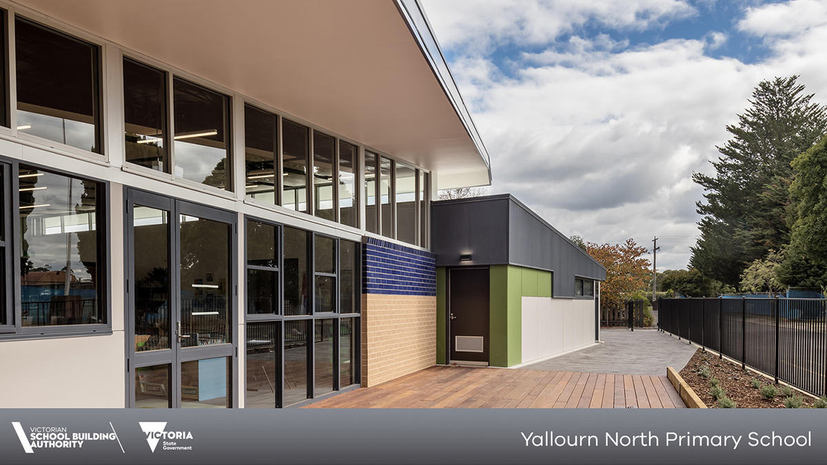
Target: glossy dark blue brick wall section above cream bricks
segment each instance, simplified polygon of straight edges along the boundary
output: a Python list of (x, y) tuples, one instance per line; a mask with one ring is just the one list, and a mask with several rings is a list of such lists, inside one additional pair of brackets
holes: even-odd
[(368, 237), (362, 256), (364, 294), (437, 295), (433, 253)]

